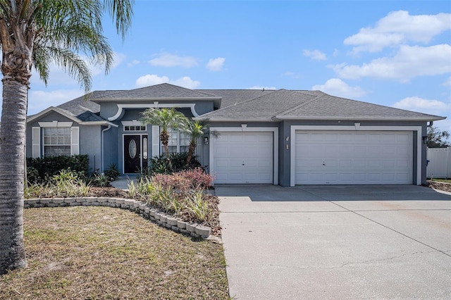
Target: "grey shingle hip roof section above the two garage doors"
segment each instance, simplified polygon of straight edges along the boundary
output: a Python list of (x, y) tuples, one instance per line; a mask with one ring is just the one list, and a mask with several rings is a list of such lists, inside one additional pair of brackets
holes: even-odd
[(369, 104), (320, 91), (277, 91), (242, 101), (197, 119), (211, 121), (275, 120), (442, 120), (443, 117)]

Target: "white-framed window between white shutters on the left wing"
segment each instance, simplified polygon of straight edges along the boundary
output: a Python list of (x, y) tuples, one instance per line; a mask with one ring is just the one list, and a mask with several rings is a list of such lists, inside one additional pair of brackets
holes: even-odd
[(44, 127), (44, 156), (70, 156), (70, 127)]

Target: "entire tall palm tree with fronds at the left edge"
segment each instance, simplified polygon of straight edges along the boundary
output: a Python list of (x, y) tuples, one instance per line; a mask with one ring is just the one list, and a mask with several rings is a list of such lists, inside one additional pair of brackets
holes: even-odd
[[(109, 13), (122, 37), (130, 27), (133, 0), (0, 0), (3, 108), (0, 127), (0, 275), (27, 265), (23, 244), (25, 121), (32, 67), (47, 84), (52, 63), (91, 87), (87, 63), (104, 65), (113, 51), (102, 35)], [(80, 55), (79, 55), (80, 54)]]

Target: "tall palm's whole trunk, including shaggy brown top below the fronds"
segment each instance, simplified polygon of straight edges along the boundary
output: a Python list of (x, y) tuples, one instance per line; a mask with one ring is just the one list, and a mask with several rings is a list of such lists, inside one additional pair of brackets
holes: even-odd
[(23, 243), (23, 180), (34, 25), (0, 19), (3, 111), (0, 127), (0, 274), (27, 265)]

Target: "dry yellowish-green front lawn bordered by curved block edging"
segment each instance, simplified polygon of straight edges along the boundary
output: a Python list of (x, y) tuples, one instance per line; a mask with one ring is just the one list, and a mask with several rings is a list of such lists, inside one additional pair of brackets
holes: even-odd
[(0, 277), (0, 299), (228, 299), (221, 244), (118, 208), (24, 210), (28, 267)]

